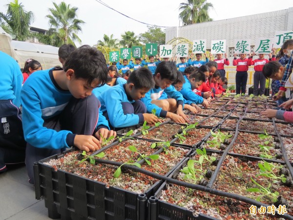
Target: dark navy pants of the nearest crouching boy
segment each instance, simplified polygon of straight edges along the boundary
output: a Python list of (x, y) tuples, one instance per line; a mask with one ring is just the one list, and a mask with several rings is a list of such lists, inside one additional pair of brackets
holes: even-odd
[[(62, 130), (71, 131), (74, 134), (92, 135), (98, 121), (100, 101), (95, 95), (84, 99), (71, 98), (61, 114), (44, 121), (43, 127), (53, 129), (57, 132)], [(54, 154), (62, 153), (63, 149), (36, 148), (29, 143), (26, 146), (25, 164), (29, 182), (34, 184), (33, 165)]]

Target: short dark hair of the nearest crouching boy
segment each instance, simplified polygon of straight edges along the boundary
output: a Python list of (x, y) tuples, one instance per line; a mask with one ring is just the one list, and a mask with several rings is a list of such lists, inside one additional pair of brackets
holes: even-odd
[(69, 54), (64, 71), (74, 70), (75, 77), (83, 78), (89, 85), (98, 80), (100, 85), (107, 81), (108, 68), (105, 57), (100, 50), (89, 45), (83, 45)]

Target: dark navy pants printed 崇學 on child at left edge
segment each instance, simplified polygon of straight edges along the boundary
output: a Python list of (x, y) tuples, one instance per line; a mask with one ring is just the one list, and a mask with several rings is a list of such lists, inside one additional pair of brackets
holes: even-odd
[(0, 169), (7, 163), (24, 162), (21, 110), (10, 100), (0, 100)]

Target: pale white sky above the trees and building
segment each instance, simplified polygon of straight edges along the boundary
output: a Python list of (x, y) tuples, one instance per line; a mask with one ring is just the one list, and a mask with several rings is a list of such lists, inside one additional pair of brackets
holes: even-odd
[[(54, 0), (57, 4), (62, 0)], [(146, 24), (135, 22), (123, 15), (105, 7), (97, 0), (63, 0), (71, 6), (78, 7), (78, 19), (85, 22), (82, 32), (78, 36), (82, 44), (94, 45), (98, 40), (103, 40), (104, 34), (114, 35), (121, 39), (125, 31), (133, 31), (136, 35), (147, 31)], [(159, 26), (181, 26), (179, 22), (180, 3), (187, 0), (102, 0), (108, 6), (138, 21)], [(0, 0), (0, 12), (6, 14), (6, 4), (10, 0)], [(51, 0), (19, 0), (25, 10), (32, 11), (35, 21), (31, 26), (48, 29), (48, 8), (53, 8)], [(259, 13), (277, 11), (293, 7), (293, 0), (282, 0), (281, 4), (276, 0), (208, 0), (213, 4), (209, 16), (214, 21), (235, 17), (254, 15)], [(277, 22), (277, 18), (276, 18)], [(165, 28), (163, 28), (165, 29)], [(77, 44), (78, 45), (78, 44)]]

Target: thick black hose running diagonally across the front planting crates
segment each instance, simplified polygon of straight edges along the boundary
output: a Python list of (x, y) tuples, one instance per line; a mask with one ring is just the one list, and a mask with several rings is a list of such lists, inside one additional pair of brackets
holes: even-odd
[[(103, 159), (95, 159), (95, 161), (98, 162), (98, 163), (113, 165), (113, 166), (117, 166), (117, 167), (120, 167), (123, 164), (121, 162), (103, 160)], [(136, 167), (136, 166), (125, 164), (125, 165), (123, 165), (123, 167), (124, 167), (124, 169), (133, 170), (135, 172), (145, 174), (146, 176), (151, 176), (151, 177), (153, 177), (155, 179), (167, 181), (168, 183), (176, 184), (176, 185), (179, 185), (179, 186), (184, 186), (184, 187), (194, 189), (194, 190), (200, 190), (200, 191), (207, 192), (207, 193), (210, 193), (210, 194), (213, 194), (213, 195), (216, 195), (216, 196), (223, 196), (223, 197), (227, 197), (227, 198), (237, 199), (237, 200), (246, 202), (248, 204), (255, 205), (257, 207), (260, 207), (260, 206), (268, 207), (269, 206), (269, 205), (264, 204), (262, 202), (258, 202), (258, 201), (254, 200), (252, 198), (247, 198), (247, 197), (240, 196), (240, 195), (237, 195), (237, 194), (223, 192), (223, 191), (208, 188), (208, 187), (205, 187), (205, 186), (179, 181), (177, 179), (172, 179), (172, 178), (167, 177), (167, 176), (162, 176), (162, 175), (159, 175), (159, 174), (152, 173), (150, 171), (147, 171), (145, 169), (142, 169), (142, 168), (139, 168), (139, 167)], [(281, 217), (286, 218), (288, 220), (293, 220), (293, 216), (290, 216), (288, 214), (279, 215), (279, 214), (276, 213), (275, 215), (281, 216)]]

